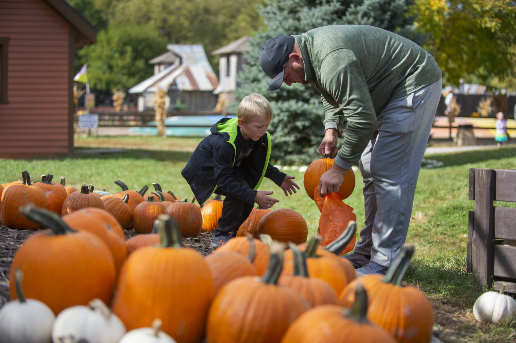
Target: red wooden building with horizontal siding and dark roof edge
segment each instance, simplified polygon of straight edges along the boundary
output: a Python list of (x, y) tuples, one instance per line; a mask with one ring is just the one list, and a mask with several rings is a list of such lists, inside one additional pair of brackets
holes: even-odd
[(0, 158), (73, 153), (74, 55), (95, 40), (65, 0), (0, 0)]

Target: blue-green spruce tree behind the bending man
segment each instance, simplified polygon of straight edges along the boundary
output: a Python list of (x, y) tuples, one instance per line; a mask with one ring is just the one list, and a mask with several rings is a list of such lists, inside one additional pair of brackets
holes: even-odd
[[(320, 157), (317, 148), (324, 136), (324, 110), (320, 94), (311, 85), (295, 83), (268, 92), (269, 78), (258, 63), (260, 49), (276, 35), (300, 35), (315, 27), (337, 24), (362, 24), (381, 27), (410, 36), (414, 18), (407, 15), (414, 0), (278, 0), (260, 7), (264, 29), (256, 31), (246, 53), (249, 65), (238, 74), (239, 101), (251, 93), (265, 96), (272, 105), (274, 117), (269, 126), (273, 161), (294, 164), (310, 163)], [(236, 113), (238, 101), (233, 104)]]

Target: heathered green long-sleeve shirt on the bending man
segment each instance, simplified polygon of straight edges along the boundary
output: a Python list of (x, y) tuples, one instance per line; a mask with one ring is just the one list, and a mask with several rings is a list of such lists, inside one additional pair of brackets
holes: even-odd
[(356, 162), (389, 104), (441, 78), (436, 61), (422, 47), (396, 33), (368, 25), (330, 25), (293, 36), (305, 80), (321, 93), (325, 129), (346, 135), (335, 163)]

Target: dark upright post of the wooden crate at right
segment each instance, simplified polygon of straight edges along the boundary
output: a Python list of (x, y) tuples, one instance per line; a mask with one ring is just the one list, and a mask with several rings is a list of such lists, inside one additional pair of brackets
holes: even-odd
[(490, 287), (493, 275), (493, 200), (494, 178), (492, 169), (475, 169), (475, 221), (473, 224), (472, 266), (477, 287)]

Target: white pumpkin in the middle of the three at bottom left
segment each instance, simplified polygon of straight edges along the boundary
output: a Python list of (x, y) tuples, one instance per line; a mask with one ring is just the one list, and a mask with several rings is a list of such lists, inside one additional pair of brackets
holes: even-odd
[(85, 340), (89, 343), (117, 343), (125, 334), (125, 326), (100, 299), (88, 306), (76, 305), (61, 311), (52, 328), (54, 342)]

